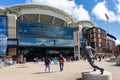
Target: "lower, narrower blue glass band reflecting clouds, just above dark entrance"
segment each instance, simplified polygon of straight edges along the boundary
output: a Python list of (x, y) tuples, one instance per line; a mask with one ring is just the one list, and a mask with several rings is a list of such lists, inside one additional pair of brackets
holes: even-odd
[(28, 46), (74, 46), (73, 40), (67, 39), (52, 39), (52, 38), (35, 38), (35, 37), (20, 37), (19, 45)]

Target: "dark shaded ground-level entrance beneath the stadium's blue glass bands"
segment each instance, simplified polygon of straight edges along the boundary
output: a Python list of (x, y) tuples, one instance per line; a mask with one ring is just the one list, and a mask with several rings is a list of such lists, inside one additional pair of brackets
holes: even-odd
[(18, 48), (18, 54), (24, 54), (27, 61), (33, 61), (35, 57), (42, 59), (45, 56), (51, 58), (59, 57), (60, 54), (63, 54), (64, 57), (73, 56), (73, 48), (68, 47), (21, 47)]

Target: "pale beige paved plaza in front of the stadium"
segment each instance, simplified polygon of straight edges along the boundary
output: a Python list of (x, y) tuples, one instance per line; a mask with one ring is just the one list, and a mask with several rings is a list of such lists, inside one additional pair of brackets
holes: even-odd
[[(112, 80), (120, 80), (120, 66), (114, 62), (96, 62), (98, 66), (112, 73)], [(50, 65), (51, 71), (45, 72), (43, 62), (15, 64), (0, 69), (0, 80), (81, 80), (81, 72), (91, 69), (87, 61), (65, 62), (64, 70), (60, 72), (59, 65)]]

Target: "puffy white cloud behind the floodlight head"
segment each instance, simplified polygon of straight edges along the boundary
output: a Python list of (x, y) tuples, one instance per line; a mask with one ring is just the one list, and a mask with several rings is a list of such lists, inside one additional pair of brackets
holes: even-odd
[(105, 14), (109, 16), (109, 21), (114, 22), (116, 21), (116, 15), (113, 11), (108, 10), (106, 7), (106, 2), (99, 2), (96, 4), (96, 6), (92, 10), (92, 14), (96, 16), (97, 19), (106, 21)]

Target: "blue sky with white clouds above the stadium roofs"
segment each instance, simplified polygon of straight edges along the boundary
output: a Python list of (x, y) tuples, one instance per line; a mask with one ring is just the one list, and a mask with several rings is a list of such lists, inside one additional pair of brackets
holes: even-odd
[(96, 23), (97, 27), (115, 36), (116, 44), (120, 44), (120, 0), (0, 0), (0, 6), (16, 4), (43, 4), (59, 8), (77, 21), (90, 20)]

